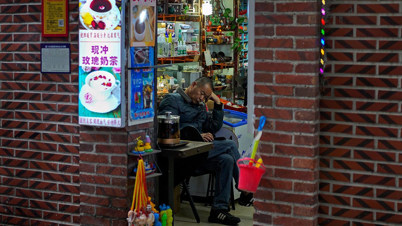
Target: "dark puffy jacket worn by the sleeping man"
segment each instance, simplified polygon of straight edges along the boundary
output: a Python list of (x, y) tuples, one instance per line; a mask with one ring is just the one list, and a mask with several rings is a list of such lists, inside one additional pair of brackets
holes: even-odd
[(160, 102), (158, 115), (165, 115), (166, 111), (180, 116), (180, 129), (192, 125), (201, 134), (215, 134), (221, 129), (224, 119), (222, 104), (214, 103), (212, 113), (209, 113), (204, 103), (193, 104), (190, 97), (180, 87), (176, 88), (175, 93), (166, 95)]

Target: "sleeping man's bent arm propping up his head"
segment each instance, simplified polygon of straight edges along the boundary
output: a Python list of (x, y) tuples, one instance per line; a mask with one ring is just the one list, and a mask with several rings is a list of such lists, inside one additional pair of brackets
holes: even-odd
[(207, 120), (203, 124), (203, 131), (215, 134), (219, 129), (222, 128), (224, 122), (224, 111), (223, 105), (214, 93), (209, 97), (210, 100), (214, 101), (212, 114), (207, 112)]

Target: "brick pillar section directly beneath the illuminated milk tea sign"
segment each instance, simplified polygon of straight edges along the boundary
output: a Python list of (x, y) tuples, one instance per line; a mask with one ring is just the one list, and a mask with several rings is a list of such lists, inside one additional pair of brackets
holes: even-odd
[(81, 126), (81, 225), (127, 225), (127, 158), (125, 128)]

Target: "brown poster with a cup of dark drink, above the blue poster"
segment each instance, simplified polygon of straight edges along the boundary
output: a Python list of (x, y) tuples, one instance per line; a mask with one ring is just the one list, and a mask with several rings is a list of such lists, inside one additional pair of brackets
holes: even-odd
[(156, 0), (130, 1), (130, 46), (154, 46)]

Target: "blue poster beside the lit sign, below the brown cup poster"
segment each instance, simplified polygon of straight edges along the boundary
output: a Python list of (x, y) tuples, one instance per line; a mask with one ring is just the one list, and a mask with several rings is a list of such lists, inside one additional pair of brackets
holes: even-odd
[[(132, 67), (154, 65), (154, 47), (131, 47)], [(130, 120), (153, 120), (154, 113), (154, 69), (141, 68), (131, 70), (130, 84)], [(143, 123), (143, 121), (141, 122)]]

